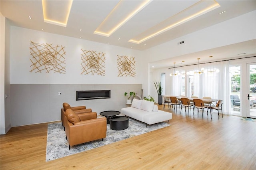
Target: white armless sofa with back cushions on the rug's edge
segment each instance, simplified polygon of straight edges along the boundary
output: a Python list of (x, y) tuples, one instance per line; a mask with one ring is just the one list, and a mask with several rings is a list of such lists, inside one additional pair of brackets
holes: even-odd
[(122, 108), (121, 113), (146, 123), (147, 127), (172, 119), (172, 113), (158, 110), (158, 106), (154, 105), (154, 102), (138, 99), (133, 99), (131, 107)]

